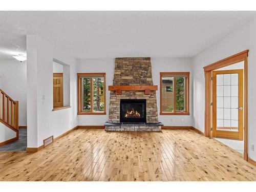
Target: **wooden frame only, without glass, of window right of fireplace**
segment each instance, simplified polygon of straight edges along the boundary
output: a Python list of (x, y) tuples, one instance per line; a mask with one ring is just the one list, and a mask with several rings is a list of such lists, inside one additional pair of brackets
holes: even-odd
[[(160, 115), (190, 115), (189, 113), (189, 72), (160, 72)], [(176, 112), (176, 90), (175, 90), (175, 80), (173, 84), (173, 108), (174, 112), (162, 112), (162, 77), (163, 75), (186, 75), (186, 112)], [(174, 77), (175, 79), (175, 77)]]

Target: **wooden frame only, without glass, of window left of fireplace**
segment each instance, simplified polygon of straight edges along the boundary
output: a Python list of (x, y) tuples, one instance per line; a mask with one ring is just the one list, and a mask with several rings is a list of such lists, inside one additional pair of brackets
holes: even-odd
[[(82, 89), (81, 89), (81, 76), (103, 76), (104, 86), (103, 86), (103, 96), (104, 96), (104, 111), (103, 112), (93, 112), (93, 106), (91, 107), (91, 112), (82, 111)], [(93, 77), (92, 77), (93, 78)], [(93, 93), (93, 86), (91, 81), (91, 93)], [(105, 115), (106, 114), (106, 73), (77, 73), (77, 100), (78, 100), (78, 112), (77, 115)], [(93, 101), (93, 99), (92, 99)]]

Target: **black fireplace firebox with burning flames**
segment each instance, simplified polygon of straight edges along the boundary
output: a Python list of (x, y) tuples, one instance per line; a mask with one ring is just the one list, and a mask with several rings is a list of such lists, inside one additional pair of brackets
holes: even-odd
[(146, 123), (146, 99), (121, 99), (120, 122)]

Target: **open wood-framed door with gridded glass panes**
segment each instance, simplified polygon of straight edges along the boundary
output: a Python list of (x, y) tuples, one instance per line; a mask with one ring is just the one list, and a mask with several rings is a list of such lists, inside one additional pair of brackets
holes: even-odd
[(213, 136), (243, 139), (243, 70), (212, 72), (212, 101)]

